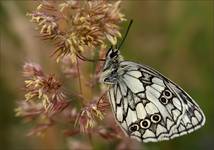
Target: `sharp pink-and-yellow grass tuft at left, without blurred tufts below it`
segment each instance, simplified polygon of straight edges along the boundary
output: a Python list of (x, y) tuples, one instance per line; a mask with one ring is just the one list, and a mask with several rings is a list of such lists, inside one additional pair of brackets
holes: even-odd
[(61, 83), (54, 75), (45, 75), (38, 64), (26, 63), (23, 67), (25, 100), (41, 103), (45, 111), (53, 114), (64, 109), (68, 102), (61, 90)]

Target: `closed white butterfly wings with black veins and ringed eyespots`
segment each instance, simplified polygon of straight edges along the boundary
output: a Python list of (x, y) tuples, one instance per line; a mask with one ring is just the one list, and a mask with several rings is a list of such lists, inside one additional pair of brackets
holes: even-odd
[(204, 125), (205, 116), (196, 102), (157, 71), (122, 61), (117, 73), (109, 99), (117, 122), (131, 138), (169, 140)]

